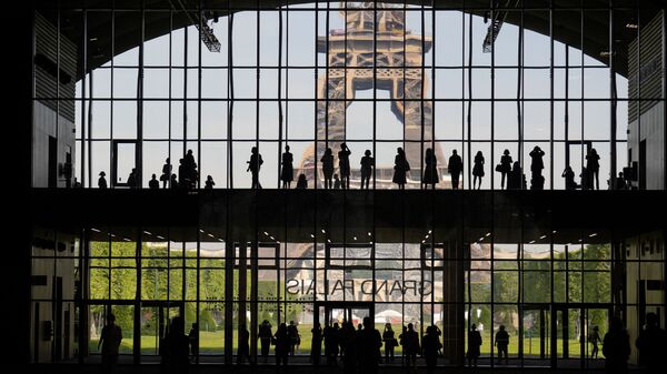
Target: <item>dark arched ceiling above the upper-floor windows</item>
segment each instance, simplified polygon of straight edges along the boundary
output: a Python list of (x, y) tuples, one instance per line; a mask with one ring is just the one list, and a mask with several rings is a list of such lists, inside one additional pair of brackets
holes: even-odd
[[(491, 1), (496, 1), (497, 7), (509, 3), (507, 9), (526, 9), (522, 17), (522, 24), (526, 29), (549, 36), (551, 32), (554, 39), (563, 43), (581, 48), (586, 54), (608, 63), (608, 58), (600, 55), (600, 52), (608, 51), (609, 48), (609, 11), (610, 0), (436, 0), (436, 9), (465, 9), (466, 12), (477, 16), (484, 16), (485, 9), (488, 9)], [(127, 50), (137, 47), (143, 40), (150, 40), (168, 33), (170, 30), (180, 29), (190, 24), (188, 17), (183, 12), (175, 12), (169, 17), (169, 12), (151, 12), (146, 18), (146, 28), (141, 29), (141, 3), (145, 9), (175, 9), (180, 10), (179, 0), (61, 0), (60, 1), (60, 24), (63, 33), (76, 42), (79, 51), (83, 50), (83, 21), (81, 9), (92, 10), (87, 19), (88, 47), (88, 69), (94, 69), (110, 60), (112, 54), (120, 54)], [(186, 9), (192, 14), (198, 13), (198, 7), (205, 9), (218, 10), (220, 17), (229, 12), (257, 9), (276, 9), (286, 4), (312, 3), (313, 0), (180, 0)], [(323, 1), (321, 1), (323, 2)], [(402, 3), (402, 1), (388, 0), (386, 2)], [(434, 1), (408, 0), (409, 4), (428, 6)], [(614, 40), (616, 49), (615, 69), (618, 73), (627, 77), (627, 46), (635, 38), (636, 29), (626, 28), (630, 20), (640, 20), (644, 24), (648, 22), (660, 9), (665, 9), (667, 0), (613, 0), (616, 7), (621, 7), (614, 11)], [(56, 23), (58, 19), (58, 9), (56, 1), (43, 0), (37, 9), (47, 18)], [(517, 6), (518, 4), (518, 6)], [(567, 11), (566, 8), (580, 7), (584, 4), (585, 11)], [(639, 11), (634, 7), (640, 4)], [(111, 22), (109, 12), (101, 10), (111, 9), (138, 10), (138, 12), (117, 11), (115, 22)], [(550, 30), (548, 9), (555, 10), (552, 13), (554, 28)], [(581, 17), (583, 14), (583, 17)], [(638, 17), (637, 17), (638, 16)], [(517, 11), (508, 12), (506, 22), (511, 24), (521, 23), (521, 13)], [(581, 36), (581, 22), (584, 22), (584, 36)], [(636, 22), (636, 21), (634, 21)], [(112, 31), (113, 30), (113, 31)], [(502, 31), (500, 31), (502, 32)], [(116, 34), (116, 38), (111, 38)], [(437, 38), (437, 36), (436, 36)], [(475, 41), (481, 48), (482, 40)], [(225, 43), (225, 41), (221, 41)], [(82, 72), (82, 53), (79, 53), (78, 79)]]

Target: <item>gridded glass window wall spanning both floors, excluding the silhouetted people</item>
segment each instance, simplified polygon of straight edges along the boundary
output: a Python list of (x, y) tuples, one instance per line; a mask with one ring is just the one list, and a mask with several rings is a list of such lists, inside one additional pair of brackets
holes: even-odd
[[(137, 169), (139, 185), (147, 188), (151, 174), (161, 174), (165, 159), (176, 173), (178, 159), (192, 150), (197, 186), (211, 175), (216, 189), (246, 189), (251, 185), (248, 160), (257, 146), (263, 158), (259, 182), (273, 189), (282, 185), (281, 160), (289, 145), (295, 182), (302, 173), (308, 189), (325, 189), (325, 149), (332, 148), (336, 158), (345, 142), (355, 189), (365, 150), (375, 156), (371, 189), (395, 189), (397, 148), (406, 150), (411, 164), (407, 189), (430, 184), (424, 181), (427, 149), (438, 159), (437, 189), (452, 185), (447, 160), (454, 150), (462, 158), (464, 189), (475, 188), (478, 152), (486, 160), (480, 188), (508, 188), (509, 176), (504, 182), (495, 169), (504, 150), (528, 179), (515, 188), (540, 189), (529, 170), (529, 153), (538, 145), (545, 151), (544, 189), (565, 189), (561, 171), (569, 165), (579, 175), (591, 149), (600, 155), (599, 189), (606, 189), (609, 175), (615, 188), (616, 172), (634, 160), (626, 155), (628, 104), (664, 99), (629, 97), (633, 83), (617, 67), (616, 47), (604, 44), (608, 34), (587, 53), (581, 46), (590, 30), (630, 24), (640, 9), (620, 1), (599, 8), (509, 3), (434, 9), (320, 2), (233, 9), (233, 17), (218, 17), (227, 8), (179, 10), (161, 1), (143, 9), (61, 8), (63, 31), (72, 23), (90, 31), (109, 26), (99, 36), (86, 32), (88, 54), (81, 61), (88, 73), (74, 93), (74, 175), (84, 188), (94, 188), (104, 171), (110, 188), (127, 188)], [(207, 50), (195, 26), (183, 28), (192, 14), (212, 28), (222, 44), (219, 53)], [(568, 24), (580, 38), (559, 28), (566, 19), (579, 20)], [(489, 22), (498, 20), (507, 22), (485, 52)], [(120, 33), (121, 24), (136, 28)], [(162, 34), (146, 32), (157, 24), (169, 27)], [(620, 29), (624, 40), (638, 32)], [(102, 37), (111, 39), (112, 59), (99, 51)], [(338, 163), (335, 169), (341, 172)], [(630, 183), (638, 186), (638, 181)], [(104, 316), (112, 311), (123, 331), (121, 353), (146, 361), (159, 354), (160, 338), (176, 315), (185, 316), (188, 327), (199, 325), (193, 335), (198, 362), (228, 363), (237, 353), (240, 326), (250, 330), (255, 354), (262, 321), (273, 331), (295, 321), (301, 333), (299, 356), (310, 353), (315, 323), (358, 323), (370, 316), (380, 330), (385, 323), (395, 330), (414, 323), (420, 333), (438, 326), (445, 344), (441, 364), (461, 363), (467, 332), (476, 324), (482, 364), (496, 365), (494, 335), (504, 325), (511, 336), (512, 364), (575, 358), (598, 367), (600, 362), (579, 360), (590, 356), (583, 337), (593, 326), (604, 335), (619, 303), (641, 315), (665, 302), (650, 296), (647, 304), (640, 300), (646, 295), (625, 300), (613, 276), (621, 260), (631, 270), (627, 282), (644, 279), (643, 271), (664, 274), (660, 240), (646, 244), (637, 239), (636, 257), (619, 250), (635, 244), (610, 232), (581, 232), (578, 242), (564, 242), (548, 220), (536, 223), (526, 212), (502, 216), (504, 202), (491, 201), (481, 209), (452, 209), (461, 219), (455, 224), (440, 222), (434, 204), (424, 212), (424, 236), (415, 239), (405, 222), (395, 222), (398, 239), (380, 241), (375, 223), (381, 208), (371, 216), (354, 216), (359, 212), (354, 196), (335, 195), (334, 202), (312, 205), (336, 205), (341, 232), (318, 222), (317, 214), (307, 216), (289, 199), (280, 233), (260, 229), (257, 206), (227, 202), (220, 214), (228, 220), (233, 209), (256, 209), (248, 223), (253, 237), (236, 237), (232, 228), (206, 220), (188, 229), (86, 228), (77, 241), (82, 249), (77, 245), (73, 253), (51, 253), (36, 244), (33, 275), (44, 267), (76, 274), (79, 289), (61, 300), (78, 307), (77, 321), (84, 322), (79, 326), (81, 356), (96, 355)], [(407, 203), (401, 204), (407, 212)], [(312, 221), (311, 241), (291, 234), (292, 220)], [(495, 228), (502, 220), (520, 233), (512, 236), (518, 240), (502, 237), (508, 230)], [(643, 257), (646, 253), (650, 256)], [(39, 293), (32, 300), (53, 303)]]

